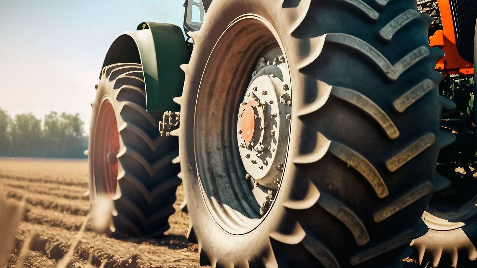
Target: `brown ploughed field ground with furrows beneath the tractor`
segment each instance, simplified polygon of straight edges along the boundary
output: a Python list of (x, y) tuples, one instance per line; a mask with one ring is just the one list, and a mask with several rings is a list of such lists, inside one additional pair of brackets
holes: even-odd
[[(23, 241), (31, 232), (40, 237), (32, 243), (27, 268), (55, 267), (68, 252), (88, 213), (88, 164), (82, 161), (0, 159), (0, 190), (11, 202), (26, 195), (28, 212), (18, 227), (16, 248), (8, 268), (15, 267)], [(189, 243), (188, 216), (179, 209), (184, 193), (179, 186), (176, 213), (169, 218), (170, 230), (158, 240), (116, 240), (98, 235), (86, 226), (69, 267), (162, 268), (199, 267), (197, 245)], [(90, 265), (91, 264), (91, 265)], [(424, 268), (412, 259), (405, 268)]]

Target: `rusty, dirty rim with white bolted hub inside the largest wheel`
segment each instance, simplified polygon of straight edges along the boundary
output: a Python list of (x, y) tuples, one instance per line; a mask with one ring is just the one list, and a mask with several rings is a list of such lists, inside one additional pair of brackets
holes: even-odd
[[(257, 27), (242, 28), (249, 22)], [(195, 102), (195, 109), (194, 117), (185, 120), (194, 122), (186, 123), (193, 130), (186, 140), (193, 138), (207, 210), (221, 228), (241, 235), (273, 214), (280, 196), (289, 150), (292, 84), (273, 29), (248, 19), (237, 27), (221, 37), (224, 43), (214, 47), (198, 88), (187, 95), (192, 99), (185, 100)], [(250, 39), (251, 34), (256, 38)], [(238, 37), (244, 42), (233, 41)], [(239, 61), (217, 69), (217, 62), (237, 55)]]

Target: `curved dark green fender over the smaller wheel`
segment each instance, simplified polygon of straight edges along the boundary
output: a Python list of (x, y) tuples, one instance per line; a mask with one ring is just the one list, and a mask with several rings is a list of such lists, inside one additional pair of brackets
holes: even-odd
[(174, 97), (182, 95), (190, 52), (180, 27), (168, 23), (143, 22), (137, 31), (124, 31), (113, 42), (103, 67), (122, 62), (143, 66), (147, 111), (178, 111)]

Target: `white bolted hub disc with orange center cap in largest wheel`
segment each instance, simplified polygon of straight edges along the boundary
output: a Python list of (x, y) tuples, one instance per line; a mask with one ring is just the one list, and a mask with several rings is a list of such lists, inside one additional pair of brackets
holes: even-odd
[(256, 186), (277, 189), (288, 147), (291, 91), (283, 78), (283, 73), (288, 74), (285, 64), (270, 64), (265, 65), (262, 58), (260, 70), (245, 92), (238, 113), (237, 142), (246, 178), (253, 179)]

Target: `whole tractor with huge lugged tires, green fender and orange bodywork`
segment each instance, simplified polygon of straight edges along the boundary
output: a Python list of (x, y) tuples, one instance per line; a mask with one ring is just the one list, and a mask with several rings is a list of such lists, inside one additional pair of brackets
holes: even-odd
[(162, 236), (182, 184), (200, 265), (476, 260), (477, 2), (184, 6), (103, 63), (88, 152), (110, 236)]

